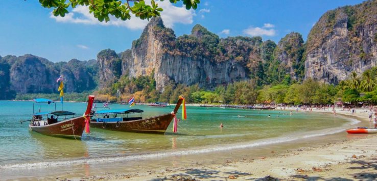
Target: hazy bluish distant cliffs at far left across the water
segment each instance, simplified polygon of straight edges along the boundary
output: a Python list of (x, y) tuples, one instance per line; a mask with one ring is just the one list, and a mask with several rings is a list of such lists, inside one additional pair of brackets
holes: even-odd
[[(64, 91), (82, 92), (97, 87), (96, 61), (53, 63), (33, 56), (6, 56), (0, 59), (0, 90), (13, 98), (17, 93), (57, 93), (56, 79), (63, 75)], [(4, 97), (0, 97), (2, 99)]]

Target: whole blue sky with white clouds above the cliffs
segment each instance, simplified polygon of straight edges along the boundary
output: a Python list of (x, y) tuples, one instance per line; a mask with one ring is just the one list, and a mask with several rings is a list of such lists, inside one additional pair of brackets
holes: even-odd
[[(259, 35), (277, 43), (292, 31), (306, 40), (323, 13), (361, 2), (202, 0), (196, 11), (186, 11), (181, 4), (172, 6), (168, 0), (159, 4), (164, 8), (164, 22), (176, 36), (190, 34), (195, 24), (201, 24), (220, 37)], [(52, 17), (51, 12), (37, 0), (1, 0), (0, 56), (33, 54), (53, 62), (96, 59), (102, 49), (119, 53), (130, 48), (147, 23), (136, 18), (100, 23), (84, 7), (74, 9), (64, 18)]]

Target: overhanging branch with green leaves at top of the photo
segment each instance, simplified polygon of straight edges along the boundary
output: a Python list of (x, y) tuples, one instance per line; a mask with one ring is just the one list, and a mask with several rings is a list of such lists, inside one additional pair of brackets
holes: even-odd
[[(164, 0), (160, 0), (164, 1)], [(170, 3), (176, 4), (183, 2), (187, 10), (196, 9), (200, 0), (169, 0)], [(150, 19), (152, 17), (160, 16), (162, 8), (152, 0), (150, 4), (146, 4), (144, 0), (39, 0), (39, 3), (44, 8), (54, 8), (54, 16), (64, 17), (69, 13), (68, 8), (75, 8), (76, 6), (86, 6), (90, 13), (99, 21), (109, 21), (109, 15), (117, 19), (127, 20), (134, 14), (140, 19)]]

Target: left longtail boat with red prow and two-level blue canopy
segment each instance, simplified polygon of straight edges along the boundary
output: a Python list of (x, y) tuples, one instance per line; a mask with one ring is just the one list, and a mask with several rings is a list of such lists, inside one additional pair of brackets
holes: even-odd
[[(90, 114), (93, 100), (94, 96), (89, 96), (84, 116)], [(55, 104), (55, 102), (50, 99), (37, 98), (34, 99), (34, 104)], [(69, 111), (40, 112), (40, 109), (37, 113), (34, 113), (34, 104), (33, 118), (28, 120), (30, 121), (30, 130), (43, 135), (81, 139), (85, 129), (86, 118), (84, 116), (75, 117), (76, 114)], [(43, 116), (45, 117), (43, 118)]]

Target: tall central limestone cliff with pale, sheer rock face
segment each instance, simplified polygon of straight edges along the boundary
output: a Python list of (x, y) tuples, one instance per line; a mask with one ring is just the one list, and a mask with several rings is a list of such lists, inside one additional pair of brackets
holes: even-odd
[(261, 43), (261, 37), (220, 39), (201, 25), (195, 25), (191, 35), (176, 38), (161, 18), (152, 18), (132, 49), (122, 54), (122, 73), (136, 77), (154, 70), (160, 91), (171, 80), (214, 88), (248, 79), (257, 62), (263, 61)]

